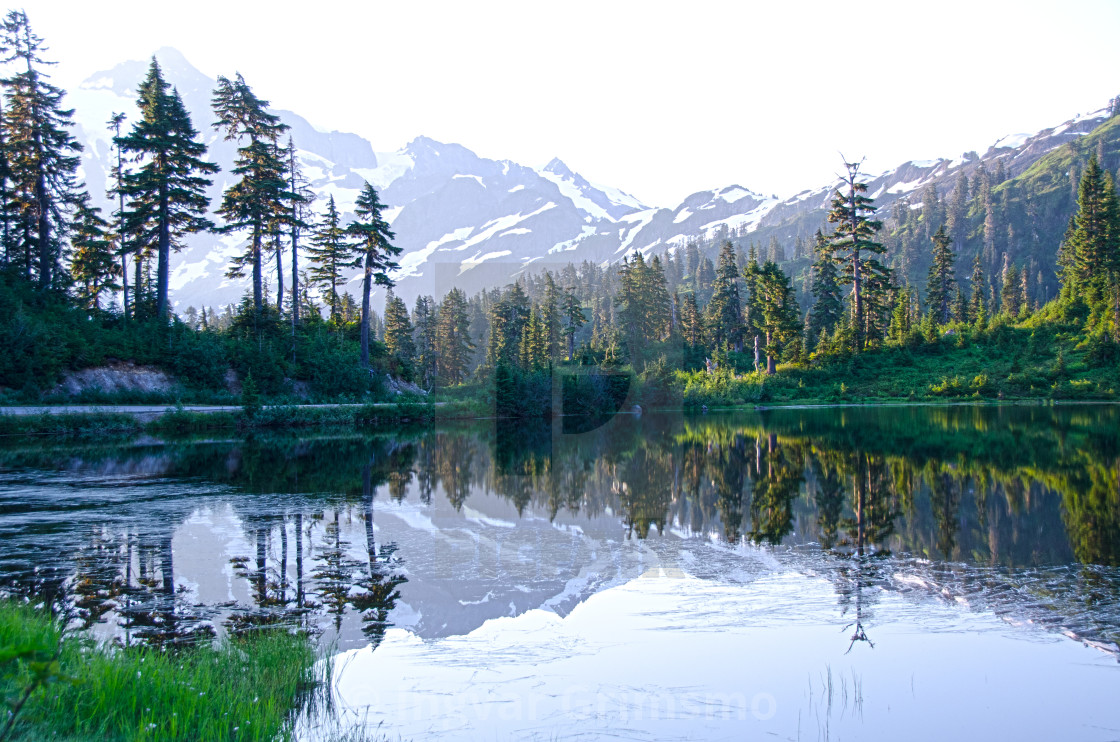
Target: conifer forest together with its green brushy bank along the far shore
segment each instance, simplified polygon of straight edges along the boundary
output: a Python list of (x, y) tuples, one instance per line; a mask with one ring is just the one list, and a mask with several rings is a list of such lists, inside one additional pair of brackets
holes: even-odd
[[(1111, 399), (1118, 388), (1113, 118), (1015, 178), (980, 163), (949, 193), (930, 187), (889, 214), (860, 164), (844, 163), (827, 220), (792, 241), (725, 226), (409, 306), (392, 293), (400, 250), (376, 188), (366, 184), (353, 220), (333, 196), (315, 203), (299, 143), (240, 75), (213, 91), (215, 127), (236, 143), (221, 202), (205, 194), (218, 165), (153, 58), (137, 110), (105, 122), (106, 211), (78, 180), (73, 110), (43, 39), (18, 11), (3, 34), (0, 393), (12, 401), (113, 359), (166, 369), (200, 401), (228, 396), (231, 372), (267, 398), (315, 401), (383, 399), (386, 375), (478, 398), (501, 379), (516, 391), (500, 389), (498, 409), (530, 416), (547, 414), (554, 373), (587, 368), (628, 373), (635, 400), (670, 407)], [(1062, 170), (1070, 188), (1055, 183)], [(176, 309), (176, 251), (206, 231), (243, 236), (226, 275), (248, 290), (237, 305)], [(354, 269), (360, 296), (342, 288)]]

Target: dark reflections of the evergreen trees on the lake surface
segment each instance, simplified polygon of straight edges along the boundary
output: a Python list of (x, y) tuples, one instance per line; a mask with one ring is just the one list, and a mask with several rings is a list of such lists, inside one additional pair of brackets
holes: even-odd
[[(390, 498), (419, 494), (423, 503), (442, 491), (456, 509), (472, 492), (488, 492), (519, 512), (535, 509), (551, 518), (564, 510), (589, 517), (610, 511), (638, 538), (680, 523), (696, 534), (715, 528), (730, 542), (746, 531), (760, 542), (818, 540), (846, 554), (894, 550), (1006, 567), (1074, 558), (1120, 564), (1116, 410), (1091, 410), (1084, 419), (1066, 419), (1062, 410), (1000, 415), (993, 421), (982, 410), (771, 410), (716, 421), (651, 415), (559, 437), (547, 424), (493, 433), (449, 427), (260, 437), (168, 445), (160, 449), (168, 461), (159, 475), (216, 482), (237, 493), (233, 502), (250, 546), (236, 566), (252, 605), (235, 611), (235, 621), (245, 625), (306, 612), (321, 600), (318, 609), (336, 622), (357, 610), (371, 636), (380, 636), (389, 609), (377, 601), (396, 597), (396, 555), (390, 545), (374, 545), (370, 530), (365, 555), (347, 556), (362, 549), (352, 545), (348, 553), (345, 523), (332, 529), (330, 521), (336, 513), (345, 518), (360, 493), (368, 503), (366, 493), (382, 485)], [(199, 610), (174, 590), (169, 529), (184, 513), (172, 511), (153, 508), (153, 522), (130, 535), (112, 527), (84, 532), (82, 548), (65, 550), (65, 568), (52, 572), (46, 563), (54, 560), (39, 558), (44, 567), (35, 575), (12, 569), (4, 578), (49, 590), (62, 575), (72, 578), (86, 622), (115, 613), (130, 630), (157, 640), (188, 632)], [(327, 520), (308, 527), (324, 514)], [(1108, 573), (1086, 574), (1101, 584), (1086, 577), (1085, 600), (1112, 600)], [(865, 599), (857, 600), (852, 587), (860, 578), (843, 582), (862, 624)]]

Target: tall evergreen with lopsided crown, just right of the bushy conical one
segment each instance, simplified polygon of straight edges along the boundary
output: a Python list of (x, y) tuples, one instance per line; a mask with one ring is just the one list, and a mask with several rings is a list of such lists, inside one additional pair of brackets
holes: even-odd
[(249, 247), (234, 258), (226, 275), (240, 278), (246, 266), (253, 276), (253, 314), (260, 317), (263, 306), (261, 272), (264, 239), (284, 217), (292, 198), (288, 191), (287, 166), (277, 145), (288, 124), (270, 113), (268, 101), (258, 98), (239, 74), (233, 81), (220, 76), (214, 90), (215, 129), (226, 141), (236, 141), (237, 158), (233, 174), (240, 180), (226, 188), (218, 210), (225, 219), (224, 232), (249, 230)]

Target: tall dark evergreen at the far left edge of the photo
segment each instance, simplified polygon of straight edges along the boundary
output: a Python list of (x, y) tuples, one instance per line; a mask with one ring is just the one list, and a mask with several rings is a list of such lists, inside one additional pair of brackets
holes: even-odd
[(16, 67), (0, 78), (0, 137), (11, 178), (3, 211), (15, 221), (8, 249), (25, 277), (47, 290), (54, 287), (62, 257), (65, 211), (74, 198), (82, 146), (69, 132), (74, 111), (63, 108), (64, 91), (41, 69), (53, 63), (40, 56), (46, 47), (31, 31), (27, 13), (8, 12), (0, 26), (0, 49), (2, 62)]

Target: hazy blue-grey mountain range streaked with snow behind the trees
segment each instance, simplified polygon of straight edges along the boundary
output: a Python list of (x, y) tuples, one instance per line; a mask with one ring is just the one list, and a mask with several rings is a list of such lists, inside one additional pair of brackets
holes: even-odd
[[(212, 206), (231, 185), (235, 147), (213, 128), (209, 101), (215, 81), (195, 69), (175, 49), (156, 53), (165, 77), (183, 95), (195, 127), (209, 147), (208, 158), (222, 166), (211, 188)], [(137, 113), (137, 87), (148, 61), (127, 62), (92, 75), (67, 103), (75, 109), (76, 132), (85, 145), (83, 170), (94, 200), (104, 204), (106, 174), (112, 168), (112, 113)], [(249, 81), (252, 84), (252, 81)], [(791, 198), (764, 196), (732, 185), (692, 194), (675, 208), (648, 206), (617, 188), (599, 186), (553, 159), (536, 169), (510, 160), (478, 157), (466, 147), (417, 137), (394, 152), (377, 152), (355, 133), (324, 132), (289, 111), (277, 111), (291, 127), (305, 175), (318, 195), (317, 211), (334, 195), (344, 220), (364, 182), (373, 184), (390, 206), (386, 216), (402, 248), (396, 293), (410, 302), (420, 294), (442, 296), (452, 286), (468, 294), (510, 282), (526, 267), (589, 260), (620, 260), (634, 250), (662, 251), (718, 230), (759, 231), (765, 239), (808, 236), (823, 222), (833, 184)], [(868, 178), (877, 205), (920, 193), (928, 184), (944, 194), (963, 168), (980, 161), (995, 167), (1002, 159), (1015, 175), (1054, 147), (1094, 128), (1107, 111), (1071, 120), (1033, 136), (997, 141), (984, 155), (958, 159), (911, 161)], [(130, 126), (127, 123), (125, 126)], [(914, 203), (917, 203), (915, 197)], [(108, 205), (108, 204), (105, 204)], [(171, 299), (176, 307), (222, 306), (246, 290), (243, 279), (225, 277), (230, 259), (244, 235), (200, 234), (186, 240), (172, 257)], [(265, 278), (276, 287), (274, 259)], [(348, 286), (355, 295), (358, 278)], [(381, 296), (375, 297), (381, 303)]]

